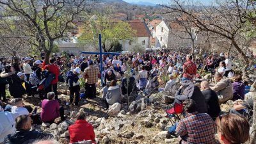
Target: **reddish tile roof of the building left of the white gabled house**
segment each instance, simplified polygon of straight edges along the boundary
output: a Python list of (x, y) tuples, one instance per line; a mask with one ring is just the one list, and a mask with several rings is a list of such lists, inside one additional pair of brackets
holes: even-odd
[(151, 36), (151, 33), (145, 22), (142, 22), (141, 20), (130, 20), (128, 23), (131, 25), (131, 28), (136, 31), (137, 37)]

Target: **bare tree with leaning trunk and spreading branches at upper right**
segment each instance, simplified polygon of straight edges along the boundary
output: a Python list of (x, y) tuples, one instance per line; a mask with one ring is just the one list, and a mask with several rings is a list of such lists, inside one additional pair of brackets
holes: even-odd
[[(237, 36), (243, 36), (248, 29), (246, 26), (246, 15), (253, 6), (251, 1), (246, 0), (225, 0), (216, 1), (212, 6), (188, 6), (180, 0), (171, 0), (171, 5), (162, 5), (166, 12), (179, 13), (199, 28), (200, 31), (209, 31), (229, 40), (239, 54), (244, 63), (245, 72), (250, 60), (246, 57), (243, 47), (237, 42)], [(191, 10), (193, 9), (193, 10)]]

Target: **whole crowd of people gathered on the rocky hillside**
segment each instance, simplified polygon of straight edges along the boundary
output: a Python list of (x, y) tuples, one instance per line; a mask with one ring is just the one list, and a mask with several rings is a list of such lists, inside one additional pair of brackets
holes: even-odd
[[(170, 134), (180, 136), (180, 143), (214, 143), (217, 129), (221, 143), (244, 143), (249, 139), (255, 79), (242, 79), (241, 74), (236, 74), (232, 67), (234, 59), (228, 52), (193, 57), (164, 49), (103, 55), (102, 72), (99, 55), (52, 54), (49, 63), (45, 63), (44, 52), (40, 56), (0, 59), (0, 143), (25, 144), (51, 139), (51, 134), (29, 130), (31, 124), (52, 124), (56, 118), (67, 118), (58, 100), (58, 83), (68, 85), (68, 104), (79, 106), (81, 99), (96, 98), (99, 79), (102, 79), (106, 110), (116, 102), (135, 100), (140, 91), (145, 95), (168, 93), (174, 99), (172, 106), (182, 104), (184, 118), (168, 128)], [(214, 83), (200, 76), (202, 69), (209, 72)], [(81, 80), (85, 81), (84, 88)], [(7, 85), (11, 100), (6, 98)], [(24, 106), (24, 95), (38, 95), (42, 110)], [(223, 115), (220, 104), (228, 100), (234, 101), (234, 108)], [(92, 124), (86, 122), (83, 111), (77, 113), (76, 123), (68, 131), (70, 143), (83, 140), (95, 143)]]

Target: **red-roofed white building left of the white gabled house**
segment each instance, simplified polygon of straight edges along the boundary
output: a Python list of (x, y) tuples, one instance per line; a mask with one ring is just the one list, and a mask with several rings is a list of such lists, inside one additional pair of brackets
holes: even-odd
[(140, 44), (145, 48), (150, 47), (150, 30), (147, 27), (147, 24), (141, 20), (130, 20), (127, 21), (131, 28), (136, 31), (136, 37), (133, 40), (120, 40), (122, 49), (124, 51), (129, 51), (134, 44)]

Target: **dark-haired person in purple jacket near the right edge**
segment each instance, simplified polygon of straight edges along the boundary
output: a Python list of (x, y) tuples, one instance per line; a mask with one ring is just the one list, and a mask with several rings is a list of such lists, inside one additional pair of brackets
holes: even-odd
[(243, 83), (243, 79), (241, 74), (236, 74), (234, 77), (234, 83), (232, 83), (233, 86), (233, 101), (237, 99), (244, 99), (244, 90), (245, 86)]

